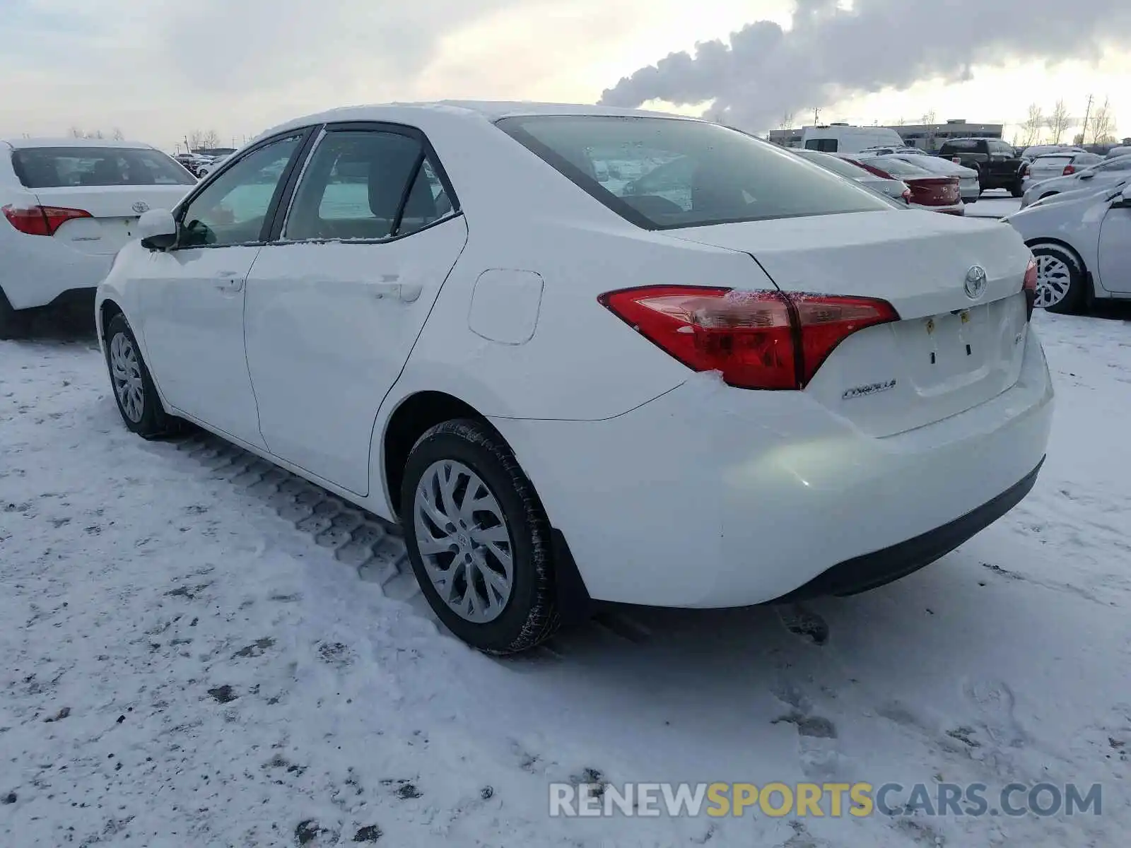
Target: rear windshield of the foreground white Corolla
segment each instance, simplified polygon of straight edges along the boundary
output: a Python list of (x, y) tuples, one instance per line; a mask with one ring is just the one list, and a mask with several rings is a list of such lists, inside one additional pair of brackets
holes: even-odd
[(497, 126), (646, 230), (892, 208), (795, 154), (706, 121), (529, 115)]

